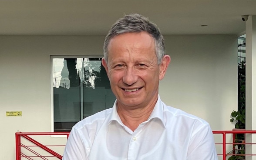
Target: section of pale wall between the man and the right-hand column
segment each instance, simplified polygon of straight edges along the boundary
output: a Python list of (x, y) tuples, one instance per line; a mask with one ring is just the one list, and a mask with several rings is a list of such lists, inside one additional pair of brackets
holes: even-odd
[(212, 130), (228, 130), (237, 110), (237, 37), (165, 36), (171, 55), (160, 86), (166, 104), (207, 120)]

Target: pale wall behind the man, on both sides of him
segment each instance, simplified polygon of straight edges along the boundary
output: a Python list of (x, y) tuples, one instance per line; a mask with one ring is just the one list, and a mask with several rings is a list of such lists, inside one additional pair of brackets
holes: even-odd
[[(15, 159), (15, 132), (51, 131), (50, 55), (102, 54), (104, 36), (0, 36), (0, 160)], [(231, 130), (237, 108), (234, 35), (165, 36), (172, 61), (161, 99)], [(6, 117), (22, 111), (22, 117)]]

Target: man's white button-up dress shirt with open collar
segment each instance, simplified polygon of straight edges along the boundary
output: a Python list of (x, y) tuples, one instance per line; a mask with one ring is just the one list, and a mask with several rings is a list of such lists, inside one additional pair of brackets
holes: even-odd
[(113, 108), (78, 122), (62, 160), (218, 160), (205, 120), (166, 106), (158, 96), (147, 121), (133, 132)]

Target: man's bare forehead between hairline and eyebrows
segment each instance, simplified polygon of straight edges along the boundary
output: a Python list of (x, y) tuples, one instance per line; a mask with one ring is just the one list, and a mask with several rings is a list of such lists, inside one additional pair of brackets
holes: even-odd
[(157, 61), (154, 39), (146, 32), (120, 34), (109, 43), (108, 61), (110, 63)]

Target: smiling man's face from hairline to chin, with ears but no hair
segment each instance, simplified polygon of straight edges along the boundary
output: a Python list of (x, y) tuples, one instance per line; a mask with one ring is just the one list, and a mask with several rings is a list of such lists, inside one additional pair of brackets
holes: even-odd
[(118, 107), (146, 107), (158, 98), (162, 80), (154, 39), (146, 32), (124, 33), (110, 40), (108, 64), (102, 61)]

